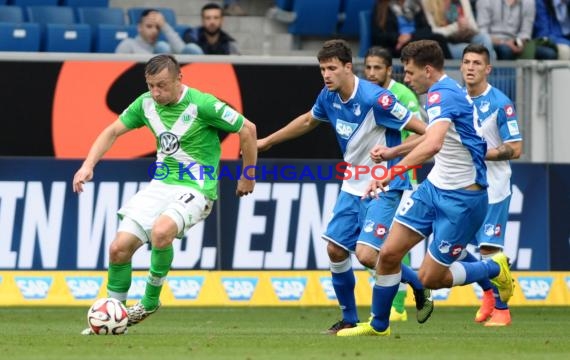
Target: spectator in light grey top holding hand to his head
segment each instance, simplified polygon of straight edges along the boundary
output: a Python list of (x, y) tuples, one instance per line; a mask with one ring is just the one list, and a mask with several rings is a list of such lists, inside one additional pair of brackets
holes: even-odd
[[(180, 35), (166, 22), (160, 11), (146, 9), (137, 25), (138, 35), (126, 38), (117, 45), (119, 54), (202, 54), (196, 44), (185, 44)], [(158, 40), (164, 34), (167, 41)]]

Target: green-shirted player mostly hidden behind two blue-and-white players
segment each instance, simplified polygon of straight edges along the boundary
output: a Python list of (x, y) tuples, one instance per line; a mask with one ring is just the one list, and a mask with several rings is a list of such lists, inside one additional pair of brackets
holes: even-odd
[[(385, 89), (390, 90), (396, 99), (400, 101), (405, 107), (408, 108), (418, 119), (420, 116), (419, 101), (416, 96), (407, 86), (401, 84), (394, 79), (392, 79), (392, 55), (390, 52), (382, 47), (374, 46), (368, 49), (366, 56), (364, 57), (364, 76), (367, 80), (382, 86)], [(413, 132), (402, 129), (402, 141), (408, 138), (410, 135), (414, 135)], [(409, 170), (409, 178), (415, 189), (418, 185), (414, 170)], [(400, 204), (404, 204), (406, 200), (410, 197), (413, 190), (405, 190), (402, 194), (402, 200)], [(401, 206), (401, 205), (400, 205)], [(406, 265), (410, 265), (410, 255), (406, 254), (402, 262)], [(375, 274), (375, 272), (374, 272)], [(400, 284), (400, 289), (394, 298), (392, 303), (392, 309), (390, 311), (390, 321), (407, 321), (408, 313), (404, 307), (404, 301), (406, 299), (406, 284)]]

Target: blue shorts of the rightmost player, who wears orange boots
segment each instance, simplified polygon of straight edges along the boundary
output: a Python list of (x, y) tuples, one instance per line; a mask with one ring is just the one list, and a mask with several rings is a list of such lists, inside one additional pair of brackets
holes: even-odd
[(505, 230), (509, 219), (510, 203), (511, 195), (496, 204), (489, 204), (483, 226), (477, 232), (475, 242), (473, 242), (474, 245), (489, 245), (501, 249), (505, 246)]

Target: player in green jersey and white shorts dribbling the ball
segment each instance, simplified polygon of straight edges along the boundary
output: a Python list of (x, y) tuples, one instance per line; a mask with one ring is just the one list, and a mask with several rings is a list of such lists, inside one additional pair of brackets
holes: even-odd
[[(162, 284), (174, 258), (172, 242), (212, 210), (217, 180), (208, 175), (217, 174), (221, 154), (218, 132), (239, 134), (243, 169), (249, 170), (239, 178), (236, 195), (253, 191), (257, 163), (255, 125), (213, 95), (184, 85), (180, 65), (172, 55), (151, 58), (145, 66), (145, 79), (149, 91), (99, 134), (73, 178), (73, 191), (81, 193), (93, 178), (95, 165), (116, 139), (143, 126), (156, 137), (156, 165), (170, 170), (165, 178), (155, 176), (118, 211), (121, 223), (109, 248), (110, 297), (126, 302), (132, 256), (143, 244), (152, 244), (145, 294), (127, 308), (129, 326), (160, 307)], [(85, 329), (82, 333), (92, 332)]]

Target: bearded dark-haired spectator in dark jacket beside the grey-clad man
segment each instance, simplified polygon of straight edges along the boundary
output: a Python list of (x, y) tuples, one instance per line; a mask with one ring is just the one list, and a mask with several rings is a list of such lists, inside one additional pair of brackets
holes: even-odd
[(222, 30), (224, 14), (222, 7), (209, 3), (202, 7), (202, 26), (190, 28), (184, 33), (186, 43), (197, 44), (207, 55), (239, 55), (237, 43)]

